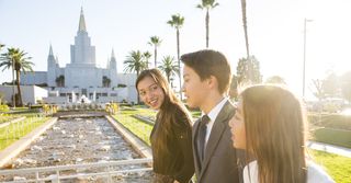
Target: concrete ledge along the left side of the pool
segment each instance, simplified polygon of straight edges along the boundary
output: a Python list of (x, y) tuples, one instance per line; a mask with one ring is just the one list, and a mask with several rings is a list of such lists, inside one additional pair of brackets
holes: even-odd
[(35, 128), (33, 131), (22, 137), (18, 141), (13, 142), (11, 146), (0, 151), (0, 168), (5, 165), (10, 160), (15, 158), (21, 151), (26, 149), (32, 141), (39, 137), (46, 129), (50, 128), (57, 122), (57, 117), (48, 119), (42, 126)]

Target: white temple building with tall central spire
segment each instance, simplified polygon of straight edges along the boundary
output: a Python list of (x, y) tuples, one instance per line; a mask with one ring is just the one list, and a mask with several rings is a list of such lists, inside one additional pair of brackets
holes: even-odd
[(105, 68), (99, 68), (95, 60), (95, 46), (91, 45), (83, 11), (75, 44), (70, 45), (70, 64), (59, 67), (52, 45), (47, 57), (47, 71), (21, 73), (22, 84), (46, 87), (47, 103), (91, 102), (137, 102), (135, 73), (117, 73), (117, 62), (112, 49)]

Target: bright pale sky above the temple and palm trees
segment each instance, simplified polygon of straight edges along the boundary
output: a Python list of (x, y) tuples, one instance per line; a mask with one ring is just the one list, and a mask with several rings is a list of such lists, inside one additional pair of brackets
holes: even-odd
[[(240, 0), (216, 1), (219, 5), (210, 12), (210, 48), (222, 52), (236, 73), (239, 58), (246, 57)], [(70, 45), (82, 7), (98, 65), (106, 65), (113, 48), (117, 71), (123, 72), (123, 61), (131, 50), (154, 53), (147, 44), (154, 35), (162, 39), (158, 58), (177, 58), (176, 30), (167, 24), (176, 13), (185, 18), (180, 30), (180, 53), (204, 49), (205, 12), (195, 8), (200, 2), (0, 0), (0, 43), (25, 50), (33, 57), (36, 71), (47, 70), (52, 44), (60, 67), (65, 67), (70, 62)], [(306, 95), (312, 95), (313, 79), (322, 79), (330, 71), (342, 75), (351, 70), (350, 8), (350, 0), (247, 1), (250, 54), (260, 61), (263, 80), (281, 76), (302, 95), (305, 19), (313, 20), (306, 24)], [(0, 83), (10, 80), (10, 71), (0, 71)]]

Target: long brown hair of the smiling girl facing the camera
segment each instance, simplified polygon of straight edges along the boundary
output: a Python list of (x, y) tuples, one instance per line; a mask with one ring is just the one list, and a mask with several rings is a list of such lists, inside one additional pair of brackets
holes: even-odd
[(169, 149), (167, 149), (165, 142), (167, 141), (167, 137), (171, 133), (171, 124), (177, 124), (176, 116), (182, 115), (183, 113), (185, 114), (188, 122), (191, 122), (191, 116), (185, 106), (170, 89), (170, 84), (158, 69), (147, 69), (141, 71), (136, 79), (136, 89), (138, 87), (138, 83), (147, 77), (152, 78), (165, 93), (163, 103), (161, 104), (160, 110), (157, 114), (157, 122), (159, 123), (159, 126), (154, 131), (157, 138), (150, 140), (154, 145), (154, 150), (169, 152)]

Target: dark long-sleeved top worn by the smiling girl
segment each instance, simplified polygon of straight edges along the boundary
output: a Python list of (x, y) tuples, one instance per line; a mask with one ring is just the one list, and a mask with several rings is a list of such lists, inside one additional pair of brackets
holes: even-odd
[[(186, 115), (180, 110), (174, 110), (176, 121), (171, 122), (171, 129), (165, 142), (165, 150), (156, 150), (152, 139), (157, 138), (157, 128), (160, 127), (156, 119), (150, 141), (154, 157), (154, 172), (170, 175), (180, 183), (188, 183), (194, 174), (194, 160), (192, 152), (192, 126)], [(165, 130), (158, 130), (162, 133)]]

